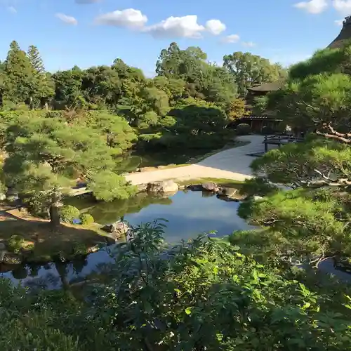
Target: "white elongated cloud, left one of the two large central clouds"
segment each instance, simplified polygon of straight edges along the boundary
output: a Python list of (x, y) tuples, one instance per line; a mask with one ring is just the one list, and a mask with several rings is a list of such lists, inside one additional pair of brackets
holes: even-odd
[(95, 18), (98, 25), (112, 25), (115, 27), (143, 28), (147, 22), (147, 17), (139, 10), (126, 8), (122, 11), (105, 13)]

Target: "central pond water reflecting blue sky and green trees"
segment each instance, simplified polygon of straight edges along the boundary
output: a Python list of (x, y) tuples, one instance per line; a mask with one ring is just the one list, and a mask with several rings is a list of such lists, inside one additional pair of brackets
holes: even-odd
[(225, 235), (253, 228), (237, 216), (239, 202), (221, 201), (208, 192), (177, 192), (166, 198), (140, 193), (132, 199), (110, 203), (92, 199), (75, 199), (69, 203), (90, 213), (102, 225), (114, 223), (121, 216), (131, 225), (165, 218), (168, 220), (165, 239), (171, 243), (212, 230)]

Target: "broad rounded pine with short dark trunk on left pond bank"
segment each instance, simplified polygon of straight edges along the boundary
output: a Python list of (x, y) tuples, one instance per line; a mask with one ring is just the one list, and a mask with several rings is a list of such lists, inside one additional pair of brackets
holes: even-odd
[[(41, 194), (53, 225), (60, 223), (60, 198), (71, 191), (77, 176), (91, 183), (99, 199), (110, 201), (134, 192), (113, 172), (116, 150), (93, 128), (69, 125), (58, 118), (20, 117), (7, 128), (6, 151), (8, 182), (29, 197)], [(100, 174), (104, 175), (102, 183)]]

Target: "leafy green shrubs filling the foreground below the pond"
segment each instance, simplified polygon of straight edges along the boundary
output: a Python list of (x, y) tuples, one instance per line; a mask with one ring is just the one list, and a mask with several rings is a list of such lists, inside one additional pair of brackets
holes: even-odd
[(110, 273), (91, 277), (97, 284), (84, 288), (83, 300), (69, 290), (32, 295), (2, 282), (2, 350), (351, 346), (350, 310), (336, 301), (326, 311), (326, 301), (333, 301), (328, 293), (257, 263), (229, 241), (203, 235), (166, 247), (163, 223), (133, 229), (134, 239), (117, 248)]

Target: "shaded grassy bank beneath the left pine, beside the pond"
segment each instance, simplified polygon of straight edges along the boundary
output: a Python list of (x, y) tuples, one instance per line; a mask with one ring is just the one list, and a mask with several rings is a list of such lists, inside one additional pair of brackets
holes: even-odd
[(9, 252), (27, 262), (46, 262), (53, 258), (69, 260), (84, 255), (94, 251), (98, 244), (106, 243), (105, 234), (96, 223), (61, 224), (53, 228), (48, 220), (22, 218), (16, 209), (0, 211), (0, 241), (6, 244)]

